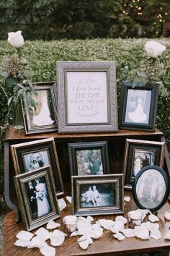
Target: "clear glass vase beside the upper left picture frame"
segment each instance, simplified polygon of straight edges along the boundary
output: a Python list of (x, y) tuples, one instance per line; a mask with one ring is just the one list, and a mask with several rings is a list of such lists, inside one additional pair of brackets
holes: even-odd
[(23, 129), (24, 122), (22, 116), (22, 104), (20, 99), (12, 104), (12, 127), (14, 129)]

